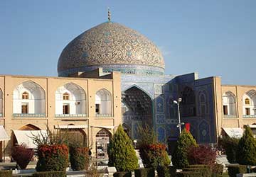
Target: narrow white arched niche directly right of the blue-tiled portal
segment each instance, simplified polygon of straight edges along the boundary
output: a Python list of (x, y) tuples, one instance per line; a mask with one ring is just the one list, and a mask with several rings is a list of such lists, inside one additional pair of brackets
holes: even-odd
[[(224, 117), (236, 117), (236, 97), (235, 94), (231, 91), (226, 91), (223, 93), (223, 115)], [(227, 109), (227, 113), (225, 113)]]

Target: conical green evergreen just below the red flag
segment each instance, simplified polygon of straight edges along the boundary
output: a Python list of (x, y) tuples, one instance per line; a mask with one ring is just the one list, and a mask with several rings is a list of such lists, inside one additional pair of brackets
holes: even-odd
[(187, 130), (182, 130), (178, 137), (178, 142), (172, 154), (171, 161), (177, 169), (182, 169), (188, 166), (188, 149), (197, 147), (196, 140)]

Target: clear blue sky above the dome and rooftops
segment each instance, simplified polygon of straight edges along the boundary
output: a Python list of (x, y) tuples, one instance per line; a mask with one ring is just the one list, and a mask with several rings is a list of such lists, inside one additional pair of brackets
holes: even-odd
[(65, 45), (107, 21), (107, 7), (161, 49), (166, 74), (256, 85), (255, 0), (1, 0), (0, 74), (57, 76)]

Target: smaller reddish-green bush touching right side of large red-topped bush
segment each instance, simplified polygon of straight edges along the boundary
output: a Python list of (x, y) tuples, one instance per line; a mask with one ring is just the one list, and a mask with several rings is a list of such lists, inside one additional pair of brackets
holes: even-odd
[(73, 171), (87, 170), (89, 166), (89, 148), (69, 146), (70, 164)]

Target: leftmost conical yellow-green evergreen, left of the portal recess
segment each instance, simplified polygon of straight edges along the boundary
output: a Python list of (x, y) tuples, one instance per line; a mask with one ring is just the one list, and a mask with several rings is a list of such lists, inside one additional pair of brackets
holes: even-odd
[(115, 166), (117, 171), (134, 171), (138, 168), (138, 159), (132, 146), (132, 140), (124, 132), (121, 125), (114, 133), (108, 147), (109, 166)]

